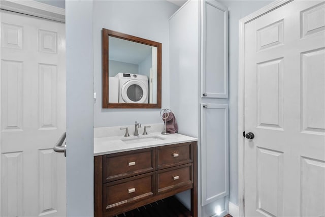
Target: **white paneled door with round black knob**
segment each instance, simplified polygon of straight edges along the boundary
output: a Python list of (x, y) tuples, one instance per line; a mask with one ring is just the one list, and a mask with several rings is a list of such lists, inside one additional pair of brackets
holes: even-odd
[(245, 216), (325, 215), (324, 31), (324, 1), (245, 24)]

